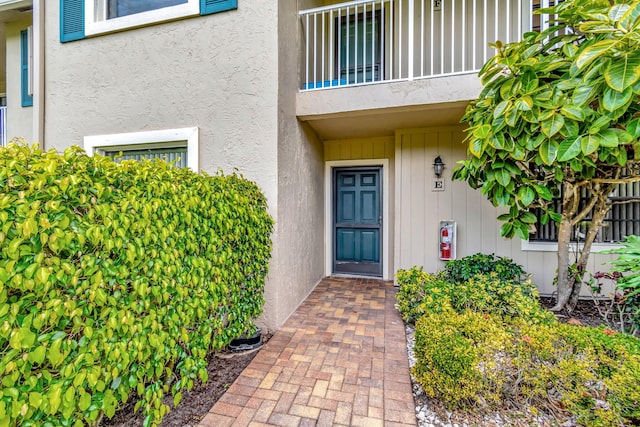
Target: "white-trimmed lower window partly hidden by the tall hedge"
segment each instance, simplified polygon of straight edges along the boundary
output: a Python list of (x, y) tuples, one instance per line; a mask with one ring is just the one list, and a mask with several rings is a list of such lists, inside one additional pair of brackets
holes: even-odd
[(163, 159), (177, 167), (198, 172), (198, 128), (85, 136), (89, 155), (109, 156), (116, 161)]

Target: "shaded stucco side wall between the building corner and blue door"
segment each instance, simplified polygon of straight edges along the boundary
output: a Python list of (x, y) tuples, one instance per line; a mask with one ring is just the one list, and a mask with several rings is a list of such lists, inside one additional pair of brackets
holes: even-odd
[(274, 238), (277, 284), (268, 324), (281, 325), (324, 275), (323, 153), (315, 133), (296, 119), (298, 14), (296, 2), (278, 2), (278, 221)]

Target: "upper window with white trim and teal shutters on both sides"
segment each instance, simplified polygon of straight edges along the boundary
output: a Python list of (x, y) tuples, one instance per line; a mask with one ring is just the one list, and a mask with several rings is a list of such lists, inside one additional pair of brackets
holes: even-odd
[(60, 0), (60, 41), (237, 7), (238, 0)]

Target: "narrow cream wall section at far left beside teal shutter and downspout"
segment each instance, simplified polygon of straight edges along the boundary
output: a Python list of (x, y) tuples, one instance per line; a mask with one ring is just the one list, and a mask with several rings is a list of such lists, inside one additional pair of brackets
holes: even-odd
[(20, 81), (20, 31), (31, 25), (31, 18), (6, 24), (7, 38), (7, 139), (23, 137), (31, 142), (33, 136), (33, 107), (22, 106)]

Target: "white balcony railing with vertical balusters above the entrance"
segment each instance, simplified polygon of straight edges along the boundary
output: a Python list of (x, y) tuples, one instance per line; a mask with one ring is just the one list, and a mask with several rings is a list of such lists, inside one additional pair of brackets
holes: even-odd
[(356, 0), (300, 11), (302, 90), (476, 73), (553, 0)]

